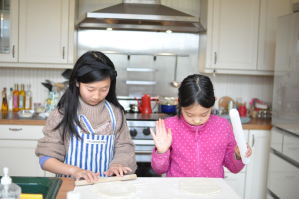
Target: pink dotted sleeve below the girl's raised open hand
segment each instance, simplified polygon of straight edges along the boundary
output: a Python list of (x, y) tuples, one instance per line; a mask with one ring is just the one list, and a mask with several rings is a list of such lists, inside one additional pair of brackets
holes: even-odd
[(155, 147), (152, 153), (151, 165), (158, 175), (166, 173), (170, 165), (170, 149), (168, 149), (165, 153), (159, 154)]

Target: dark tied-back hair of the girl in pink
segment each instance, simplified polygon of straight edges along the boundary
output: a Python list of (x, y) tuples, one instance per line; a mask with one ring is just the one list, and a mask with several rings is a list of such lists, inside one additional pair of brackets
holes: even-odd
[(182, 113), (181, 107), (197, 103), (202, 107), (211, 108), (215, 104), (214, 88), (210, 78), (199, 74), (189, 75), (183, 80), (178, 97), (178, 117)]

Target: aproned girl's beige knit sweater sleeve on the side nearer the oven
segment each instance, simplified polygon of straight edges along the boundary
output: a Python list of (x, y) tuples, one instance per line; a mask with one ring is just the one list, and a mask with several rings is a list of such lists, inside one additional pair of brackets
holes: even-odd
[[(114, 157), (109, 164), (109, 168), (113, 164), (121, 164), (122, 166), (129, 167), (130, 169), (132, 169), (131, 173), (135, 173), (137, 169), (135, 158), (135, 145), (131, 139), (126, 118), (119, 108), (115, 108), (114, 113), (116, 120)], [(122, 116), (123, 122), (121, 122)]]

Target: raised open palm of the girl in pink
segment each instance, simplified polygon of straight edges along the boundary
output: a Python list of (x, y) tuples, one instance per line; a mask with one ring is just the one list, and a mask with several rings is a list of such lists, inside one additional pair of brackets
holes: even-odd
[(157, 147), (157, 153), (167, 152), (172, 142), (171, 129), (169, 128), (167, 133), (164, 120), (159, 119), (156, 121), (156, 134), (153, 129), (150, 130)]

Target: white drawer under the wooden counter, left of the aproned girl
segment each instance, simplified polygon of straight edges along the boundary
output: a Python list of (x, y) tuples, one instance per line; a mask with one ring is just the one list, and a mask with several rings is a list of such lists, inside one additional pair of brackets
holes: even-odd
[(0, 139), (38, 140), (44, 137), (44, 126), (0, 125)]

